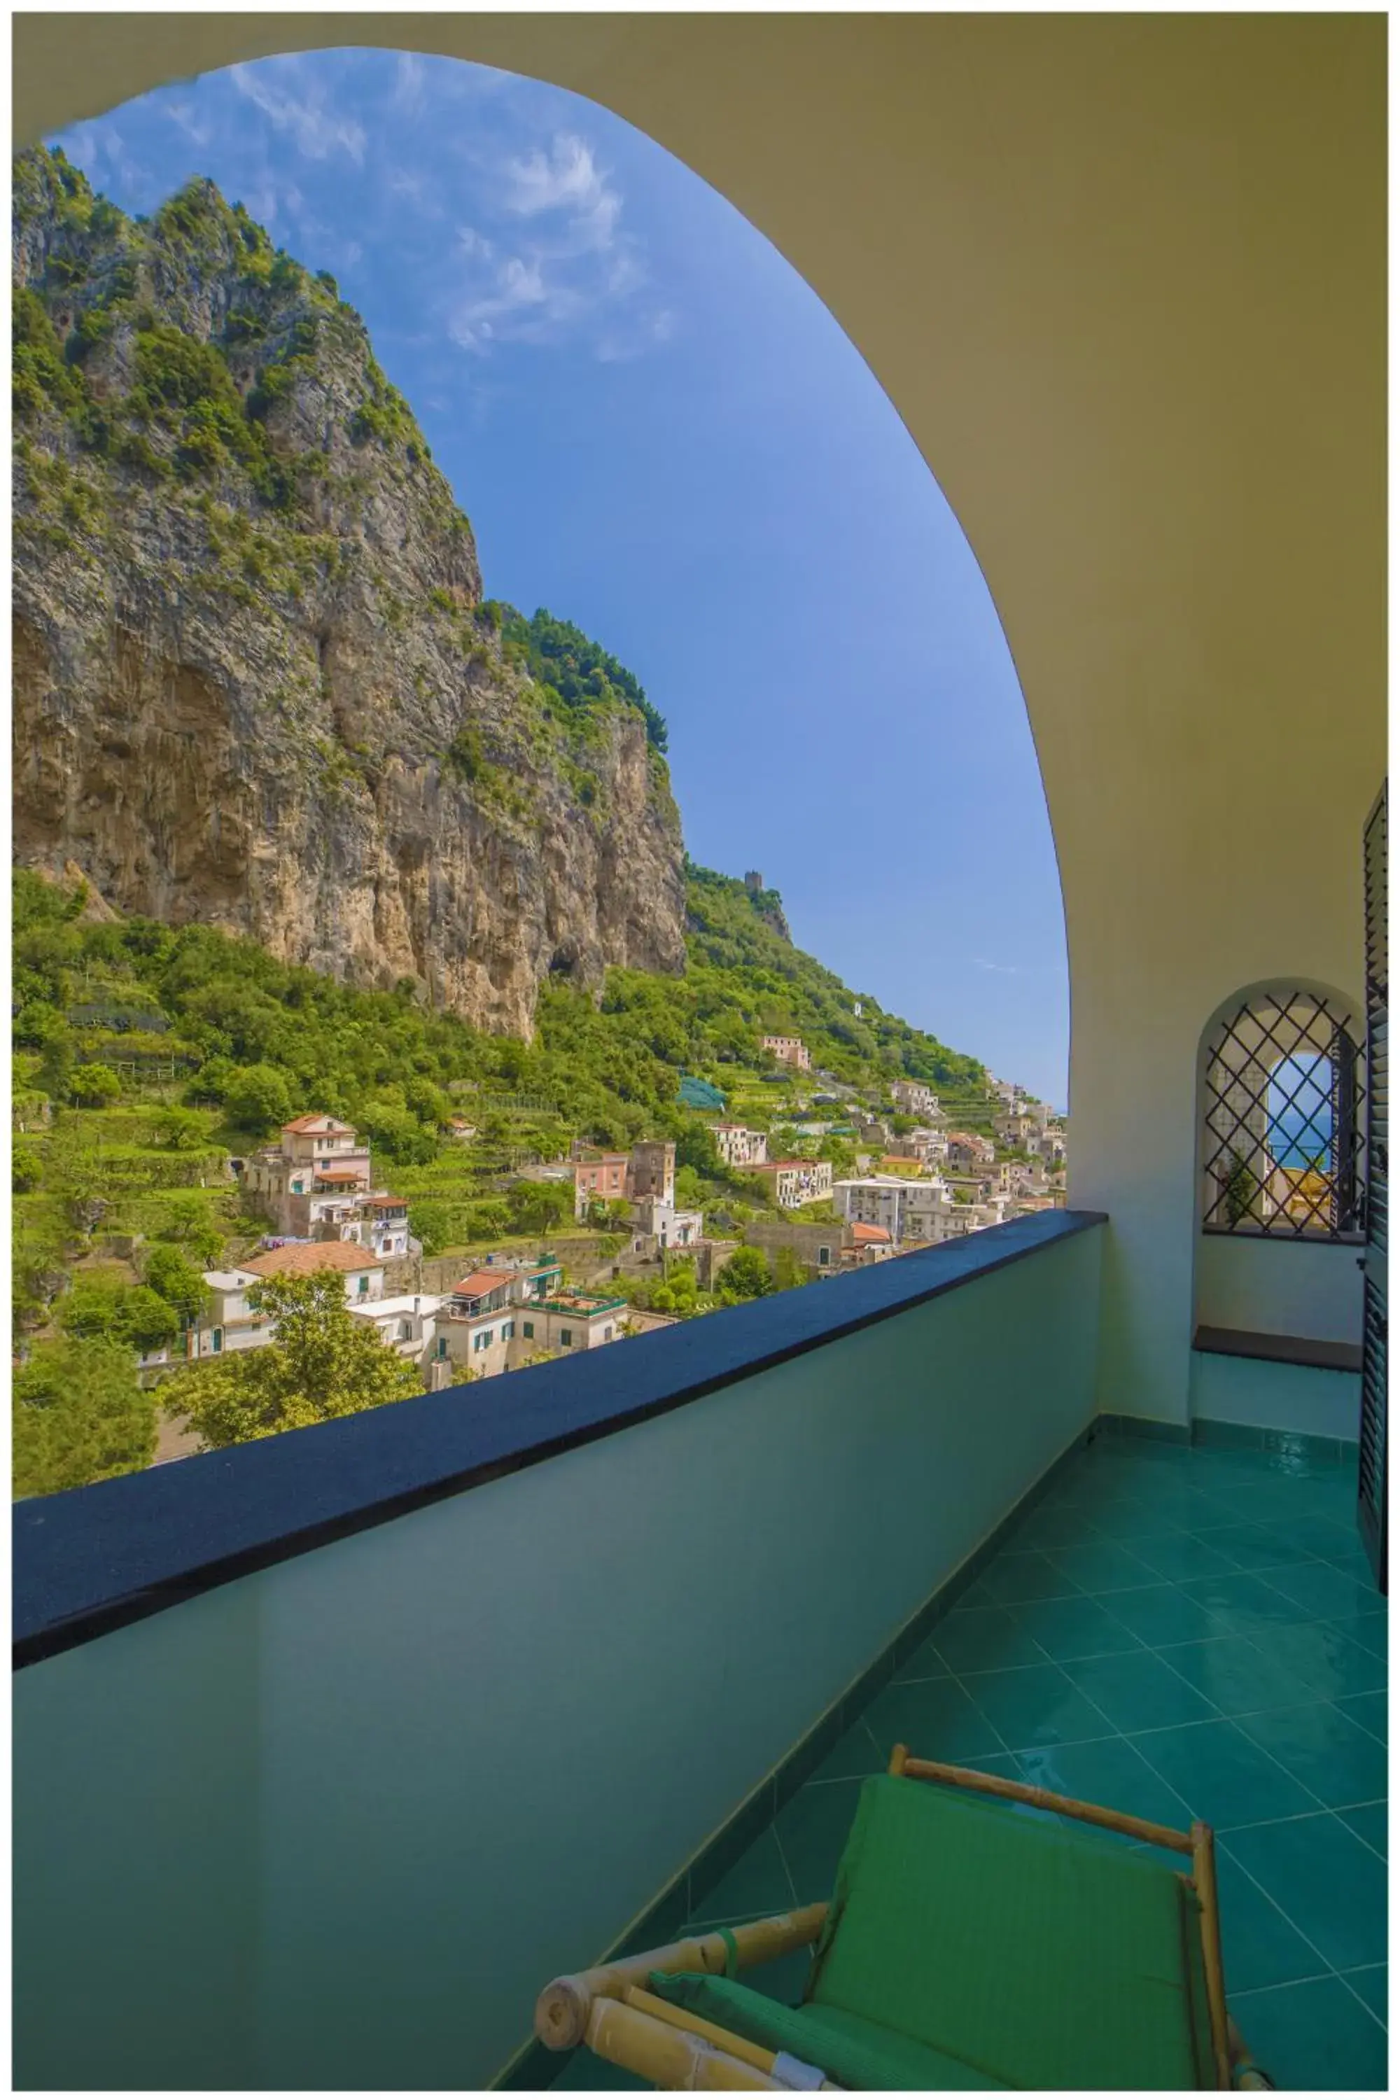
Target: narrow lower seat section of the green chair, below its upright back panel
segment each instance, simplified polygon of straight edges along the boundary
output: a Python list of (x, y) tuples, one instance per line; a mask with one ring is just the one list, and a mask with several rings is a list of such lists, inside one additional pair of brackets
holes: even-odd
[(837, 2006), (779, 2006), (726, 1976), (661, 1976), (649, 1989), (764, 2050), (819, 2064), (850, 2092), (1001, 2092), (997, 2079)]

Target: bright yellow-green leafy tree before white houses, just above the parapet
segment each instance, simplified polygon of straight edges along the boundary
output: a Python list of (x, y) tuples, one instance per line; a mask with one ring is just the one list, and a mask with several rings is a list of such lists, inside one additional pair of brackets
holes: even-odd
[(206, 1449), (311, 1428), (422, 1392), (418, 1365), (351, 1312), (338, 1270), (267, 1277), (250, 1302), (275, 1321), (275, 1342), (176, 1371), (162, 1392)]

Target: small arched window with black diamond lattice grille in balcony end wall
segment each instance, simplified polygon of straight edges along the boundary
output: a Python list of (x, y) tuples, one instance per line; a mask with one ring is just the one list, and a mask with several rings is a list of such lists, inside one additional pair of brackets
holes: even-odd
[(1255, 993), (1205, 1065), (1207, 1233), (1341, 1239), (1362, 1220), (1360, 1054), (1339, 1006)]

